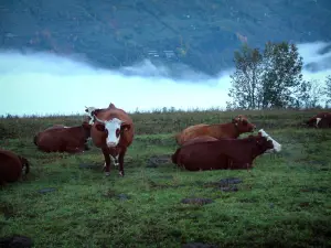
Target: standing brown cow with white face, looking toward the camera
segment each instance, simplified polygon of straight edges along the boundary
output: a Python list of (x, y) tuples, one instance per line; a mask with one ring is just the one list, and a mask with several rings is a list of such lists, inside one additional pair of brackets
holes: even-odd
[(135, 136), (134, 121), (125, 110), (116, 108), (114, 104), (108, 108), (97, 109), (93, 115), (90, 138), (93, 143), (103, 151), (105, 174), (110, 174), (113, 161), (114, 165), (119, 164), (119, 175), (124, 176), (124, 158)]

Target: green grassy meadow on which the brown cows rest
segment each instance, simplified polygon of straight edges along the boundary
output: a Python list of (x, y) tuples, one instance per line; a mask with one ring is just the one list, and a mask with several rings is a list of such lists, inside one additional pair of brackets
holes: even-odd
[[(95, 147), (71, 155), (33, 144), (38, 131), (78, 125), (83, 116), (2, 118), (0, 147), (24, 155), (31, 173), (0, 190), (0, 237), (28, 236), (40, 248), (331, 247), (331, 130), (300, 125), (318, 111), (132, 114), (136, 136), (125, 177), (114, 165), (104, 175)], [(279, 155), (257, 158), (249, 172), (189, 172), (167, 160), (181, 129), (239, 114), (282, 144)], [(221, 183), (229, 177), (237, 182)]]

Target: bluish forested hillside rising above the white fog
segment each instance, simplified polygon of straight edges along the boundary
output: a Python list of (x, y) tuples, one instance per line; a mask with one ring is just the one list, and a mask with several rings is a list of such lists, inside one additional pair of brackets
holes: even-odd
[(104, 67), (152, 57), (207, 74), (247, 41), (330, 41), (330, 0), (2, 0), (2, 48), (81, 54)]

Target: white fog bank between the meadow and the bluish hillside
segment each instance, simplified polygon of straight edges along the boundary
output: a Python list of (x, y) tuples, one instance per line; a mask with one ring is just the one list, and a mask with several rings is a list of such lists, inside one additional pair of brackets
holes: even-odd
[[(316, 63), (314, 72), (303, 69), (305, 79), (324, 82), (331, 75), (331, 51), (318, 54), (327, 45), (325, 42), (298, 44), (303, 64)], [(2, 50), (0, 116), (75, 115), (84, 114), (85, 106), (105, 108), (110, 103), (130, 112), (163, 107), (224, 108), (229, 100), (232, 72), (228, 68), (211, 78), (183, 67), (181, 79), (173, 79), (166, 66), (157, 67), (149, 61), (110, 71), (77, 57)]]

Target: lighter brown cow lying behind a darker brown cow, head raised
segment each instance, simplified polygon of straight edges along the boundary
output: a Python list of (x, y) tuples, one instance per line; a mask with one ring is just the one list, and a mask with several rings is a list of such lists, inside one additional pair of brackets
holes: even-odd
[(253, 132), (256, 129), (255, 125), (249, 123), (246, 117), (239, 115), (227, 123), (218, 125), (195, 125), (185, 128), (182, 132), (175, 136), (175, 141), (182, 145), (188, 140), (201, 136), (209, 136), (215, 139), (238, 138), (242, 133)]

